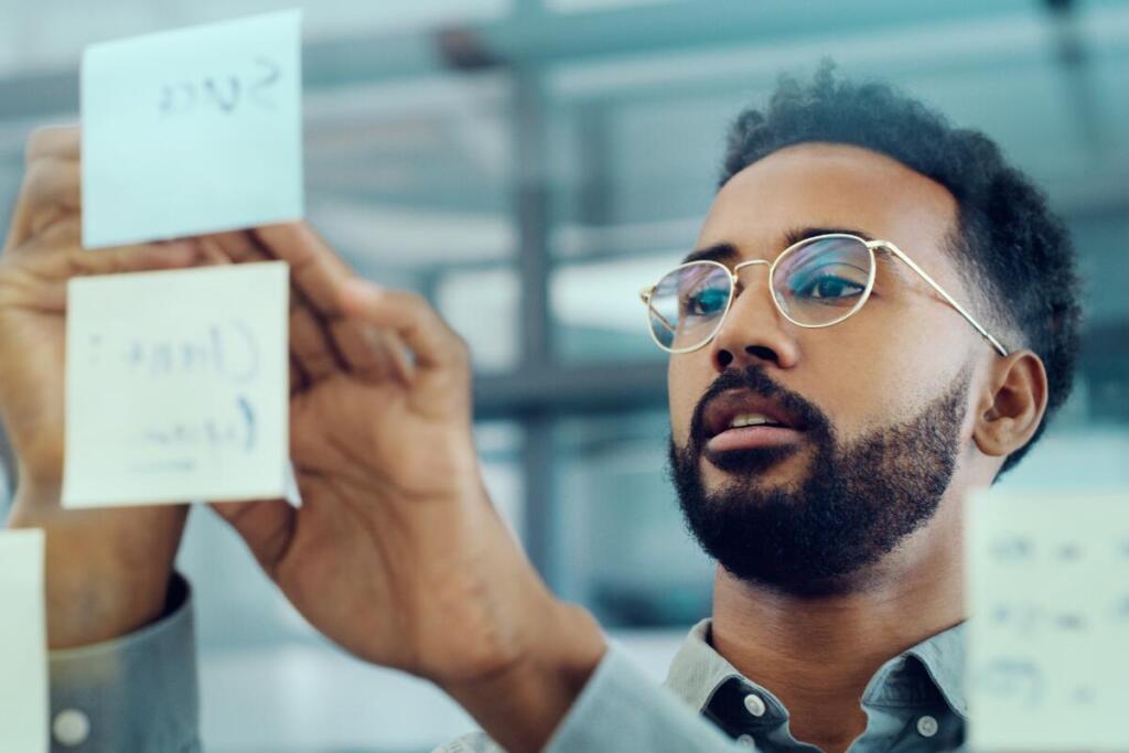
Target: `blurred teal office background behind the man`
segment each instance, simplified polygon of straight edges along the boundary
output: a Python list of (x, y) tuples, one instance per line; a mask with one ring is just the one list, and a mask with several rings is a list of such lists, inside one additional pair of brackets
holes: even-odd
[[(77, 119), (86, 44), (292, 5), (0, 0), (3, 227), (28, 131)], [(832, 56), (892, 80), (1047, 189), (1087, 275), (1085, 352), (1006, 483), (1129, 481), (1129, 2), (322, 0), (304, 54), (309, 219), (469, 340), (498, 506), (656, 678), (711, 571), (665, 480), (665, 358), (637, 291), (691, 248), (728, 123), (781, 71)], [(207, 509), (181, 566), (212, 753), (425, 751), (472, 727), (318, 639)]]

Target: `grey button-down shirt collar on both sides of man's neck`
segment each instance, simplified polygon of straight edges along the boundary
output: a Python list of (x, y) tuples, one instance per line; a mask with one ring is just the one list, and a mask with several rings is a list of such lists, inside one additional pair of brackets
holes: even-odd
[[(782, 704), (745, 677), (710, 646), (710, 620), (695, 624), (679, 648), (664, 683), (692, 708), (703, 711), (726, 681), (736, 677), (765, 697), (769, 717), (785, 716)], [(886, 662), (863, 693), (864, 703), (910, 704), (938, 692), (961, 718), (968, 719), (964, 695), (965, 624), (948, 628)]]

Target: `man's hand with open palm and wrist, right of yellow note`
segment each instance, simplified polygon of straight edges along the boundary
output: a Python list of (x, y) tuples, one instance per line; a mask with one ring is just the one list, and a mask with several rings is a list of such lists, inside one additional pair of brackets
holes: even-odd
[(535, 750), (604, 643), (587, 613), (553, 598), (490, 502), (465, 344), (418, 296), (357, 280), (304, 225), (257, 240), (244, 259), (288, 261), (313, 322), (291, 342), (307, 377), (290, 405), (304, 506), (218, 509), (315, 628), (437, 682), (500, 743)]

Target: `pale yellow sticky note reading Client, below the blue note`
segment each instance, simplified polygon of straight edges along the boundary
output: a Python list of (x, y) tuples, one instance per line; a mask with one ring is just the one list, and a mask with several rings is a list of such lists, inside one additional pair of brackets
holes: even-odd
[(63, 506), (286, 494), (289, 268), (68, 287)]

